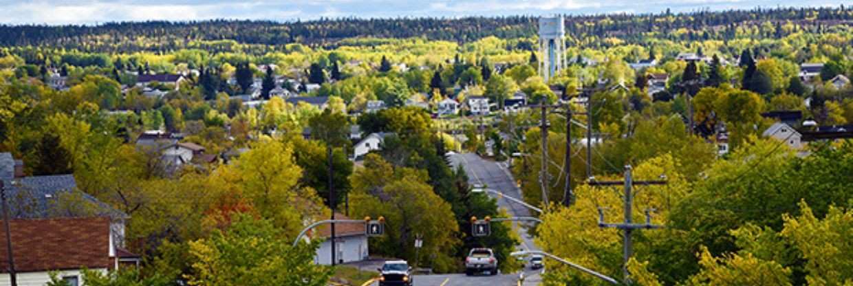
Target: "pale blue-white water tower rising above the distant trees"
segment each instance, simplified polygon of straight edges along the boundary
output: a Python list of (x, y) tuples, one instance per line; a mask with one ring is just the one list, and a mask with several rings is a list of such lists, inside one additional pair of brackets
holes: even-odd
[(566, 25), (563, 16), (539, 18), (539, 75), (548, 82), (566, 68)]

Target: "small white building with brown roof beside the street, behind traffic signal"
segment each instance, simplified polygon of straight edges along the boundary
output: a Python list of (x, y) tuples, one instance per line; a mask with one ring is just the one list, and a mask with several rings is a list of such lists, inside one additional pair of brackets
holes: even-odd
[[(335, 219), (349, 219), (341, 213), (334, 214)], [(336, 224), (334, 233), (335, 251), (334, 255), (338, 263), (347, 263), (367, 260), (370, 254), (368, 248), (368, 236), (364, 230), (364, 224)], [(332, 236), (329, 225), (321, 225), (312, 233), (312, 238), (324, 238), (317, 248), (314, 263), (328, 266), (332, 264)]]

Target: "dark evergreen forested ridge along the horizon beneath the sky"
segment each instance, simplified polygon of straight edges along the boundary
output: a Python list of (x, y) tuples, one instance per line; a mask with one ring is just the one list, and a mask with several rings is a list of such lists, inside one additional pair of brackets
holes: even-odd
[[(821, 27), (850, 25), (853, 9), (751, 9), (698, 11), (653, 15), (572, 15), (566, 17), (566, 29), (575, 38), (616, 36), (631, 41), (642, 32), (667, 34), (687, 29), (683, 37), (722, 38), (734, 35), (742, 25), (770, 22), (798, 22)], [(713, 26), (714, 29), (709, 27)], [(339, 39), (353, 37), (423, 37), (459, 43), (496, 36), (531, 37), (537, 29), (537, 17), (467, 17), (398, 19), (321, 19), (276, 22), (258, 20), (146, 21), (117, 22), (98, 26), (0, 26), (0, 46), (49, 46), (90, 52), (131, 52), (137, 50), (176, 50), (192, 41), (229, 39), (241, 44), (319, 44), (334, 45)], [(708, 34), (711, 31), (712, 34)], [(732, 36), (734, 37), (734, 36)]]

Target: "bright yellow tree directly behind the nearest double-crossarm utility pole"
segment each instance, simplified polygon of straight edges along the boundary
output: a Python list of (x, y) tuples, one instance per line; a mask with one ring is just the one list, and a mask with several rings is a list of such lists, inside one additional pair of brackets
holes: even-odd
[[(635, 180), (658, 179), (665, 174), (668, 184), (661, 186), (635, 187), (633, 216), (640, 221), (644, 210), (655, 208), (653, 224), (663, 225), (670, 209), (688, 193), (688, 181), (678, 171), (681, 164), (671, 155), (661, 155), (635, 167)], [(623, 218), (623, 191), (621, 187), (598, 188), (583, 184), (575, 189), (576, 201), (572, 207), (555, 207), (542, 217), (539, 226), (538, 244), (544, 251), (563, 257), (581, 266), (604, 273), (611, 277), (622, 277), (622, 233), (612, 228), (598, 226), (599, 207), (608, 221)], [(635, 231), (637, 241), (641, 237), (653, 241), (665, 236), (662, 231)], [(643, 239), (645, 240), (645, 239)], [(648, 260), (648, 245), (636, 243), (638, 261)], [(547, 283), (604, 283), (580, 271), (566, 266), (554, 266), (545, 276)]]

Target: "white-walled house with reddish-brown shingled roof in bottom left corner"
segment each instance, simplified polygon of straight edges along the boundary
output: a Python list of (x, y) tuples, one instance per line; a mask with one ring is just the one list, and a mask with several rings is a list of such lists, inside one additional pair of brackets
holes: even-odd
[[(100, 271), (137, 267), (141, 257), (119, 248), (107, 217), (11, 219), (9, 236), (15, 255), (17, 285), (42, 286), (49, 273), (67, 285), (82, 285), (83, 269)], [(6, 236), (0, 243), (7, 245)], [(9, 254), (0, 253), (0, 273), (8, 273)], [(9, 275), (0, 275), (0, 285), (11, 285)]]

